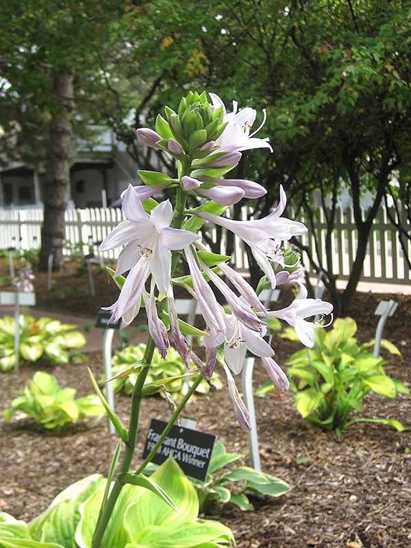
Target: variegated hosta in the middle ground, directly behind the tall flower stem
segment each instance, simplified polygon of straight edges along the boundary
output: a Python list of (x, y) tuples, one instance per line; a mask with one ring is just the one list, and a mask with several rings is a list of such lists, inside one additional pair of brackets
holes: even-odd
[[(131, 394), (136, 384), (136, 379), (138, 376), (138, 370), (140, 366), (140, 361), (142, 360), (145, 353), (146, 345), (141, 343), (140, 345), (131, 345), (123, 350), (117, 351), (112, 359), (112, 373), (114, 378), (112, 382), (114, 392), (119, 392), (124, 390), (126, 394)], [(153, 353), (153, 360), (151, 361), (151, 366), (149, 373), (147, 375), (147, 385), (155, 384), (157, 386), (162, 385), (162, 381), (166, 384), (167, 392), (171, 393), (175, 399), (182, 398), (188, 386), (185, 382), (184, 375), (189, 373), (186, 366), (179, 356), (179, 353), (175, 351), (172, 347), (169, 348), (167, 352), (166, 359), (163, 360), (158, 350), (155, 349)], [(173, 382), (169, 382), (171, 377), (177, 377)], [(101, 378), (100, 382), (104, 382), (105, 379)], [(212, 377), (212, 382), (216, 385), (217, 388), (221, 388), (222, 383), (218, 373), (214, 373)], [(198, 388), (197, 393), (207, 394), (210, 390), (210, 386), (206, 381), (202, 381)], [(155, 390), (155, 393), (159, 390)], [(160, 395), (164, 397), (164, 391), (160, 390)]]

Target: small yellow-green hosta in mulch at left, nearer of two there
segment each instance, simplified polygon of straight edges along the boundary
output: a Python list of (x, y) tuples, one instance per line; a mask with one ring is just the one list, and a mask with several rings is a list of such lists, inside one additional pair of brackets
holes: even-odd
[(60, 430), (86, 416), (104, 413), (97, 396), (75, 399), (75, 394), (75, 388), (60, 388), (53, 375), (37, 371), (27, 382), (23, 395), (12, 400), (12, 407), (4, 413), (5, 420), (10, 421), (12, 414), (20, 411), (44, 428)]

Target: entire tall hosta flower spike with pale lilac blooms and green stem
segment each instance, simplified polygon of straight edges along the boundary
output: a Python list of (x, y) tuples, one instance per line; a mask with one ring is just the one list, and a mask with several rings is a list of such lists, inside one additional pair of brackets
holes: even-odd
[[(123, 212), (127, 220), (120, 223), (100, 246), (100, 251), (123, 247), (114, 273), (121, 293), (110, 307), (112, 321), (122, 319), (123, 324), (127, 325), (144, 306), (149, 340), (144, 358), (130, 371), (138, 372), (138, 378), (132, 396), (129, 428), (126, 429), (111, 414), (116, 431), (125, 443), (125, 450), (119, 474), (101, 508), (93, 548), (101, 545), (105, 527), (123, 485), (142, 485), (144, 482), (147, 486), (147, 479), (142, 479), (143, 469), (201, 379), (204, 377), (212, 386), (216, 364), (222, 366), (227, 375), (236, 417), (240, 426), (247, 430), (249, 414), (232, 377), (232, 373), (240, 373), (247, 349), (262, 358), (262, 365), (279, 390), (288, 388), (286, 375), (273, 360), (274, 351), (264, 340), (266, 319), (275, 317), (286, 321), (295, 327), (301, 342), (312, 347), (314, 328), (322, 324), (308, 322), (306, 318), (332, 312), (329, 303), (307, 298), (306, 288), (299, 282), (302, 273), (299, 256), (282, 245), (292, 236), (306, 232), (303, 224), (282, 217), (286, 207), (283, 188), (280, 189), (277, 208), (264, 219), (234, 221), (223, 216), (228, 206), (242, 198), (256, 199), (266, 193), (256, 182), (224, 176), (238, 165), (243, 151), (272, 149), (267, 138), (256, 137), (264, 125), (265, 112), (262, 124), (253, 131), (256, 110), (238, 110), (234, 101), (232, 112), (227, 112), (219, 97), (212, 93), (209, 96), (210, 101), (206, 92), (201, 95), (189, 92), (180, 101), (177, 112), (165, 107), (165, 118), (158, 115), (155, 131), (138, 129), (138, 138), (143, 145), (166, 151), (175, 159), (177, 173), (173, 178), (156, 171), (139, 171), (145, 184), (130, 184), (123, 193)], [(169, 199), (158, 203), (152, 198), (165, 188), (175, 191), (174, 203)], [(190, 195), (197, 195), (204, 202), (199, 207), (187, 209)], [(224, 227), (251, 248), (264, 273), (260, 287), (265, 284), (275, 288), (290, 281), (299, 283), (299, 293), (290, 306), (282, 310), (267, 310), (256, 290), (227, 264), (229, 258), (210, 253), (208, 247), (203, 245), (198, 231), (204, 222)], [(175, 278), (177, 266), (182, 262), (186, 262), (190, 276)], [(124, 278), (122, 274), (127, 271), (129, 273)], [(206, 323), (204, 332), (178, 318), (174, 285), (183, 286), (197, 299), (199, 313)], [(213, 288), (223, 295), (231, 313), (227, 313), (227, 308), (217, 301)], [(201, 337), (206, 349), (205, 363), (188, 346), (186, 335)], [(164, 358), (170, 346), (182, 357), (194, 380), (147, 459), (135, 473), (129, 473), (142, 396), (160, 389), (159, 384), (145, 385), (153, 350), (157, 347)], [(167, 379), (164, 379), (163, 384), (166, 383)]]

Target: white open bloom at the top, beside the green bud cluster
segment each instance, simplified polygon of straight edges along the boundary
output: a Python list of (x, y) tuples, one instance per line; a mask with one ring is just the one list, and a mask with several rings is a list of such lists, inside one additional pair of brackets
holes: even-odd
[(254, 137), (258, 134), (266, 121), (265, 109), (263, 110), (264, 119), (262, 123), (255, 131), (250, 133), (251, 127), (256, 121), (256, 110), (250, 107), (237, 110), (238, 103), (237, 101), (233, 101), (232, 112), (227, 112), (223, 101), (218, 95), (215, 93), (210, 93), (210, 97), (214, 108), (223, 108), (223, 121), (227, 123), (223, 133), (216, 140), (216, 145), (227, 152), (263, 148), (270, 149), (270, 151), (273, 152), (268, 137), (262, 139)]

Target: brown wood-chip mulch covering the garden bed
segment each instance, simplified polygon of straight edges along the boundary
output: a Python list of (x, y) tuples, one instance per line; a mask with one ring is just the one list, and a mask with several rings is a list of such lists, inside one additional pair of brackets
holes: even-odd
[[(376, 299), (359, 295), (353, 316), (361, 341), (373, 338)], [(384, 296), (388, 298), (389, 296)], [(403, 359), (389, 358), (387, 371), (411, 386), (411, 297), (396, 296), (399, 309), (386, 326), (385, 336), (397, 344)], [(298, 345), (275, 340), (277, 361), (284, 363)], [(90, 356), (95, 375), (101, 356)], [(8, 408), (14, 390), (32, 377), (38, 366), (1, 376), (0, 408)], [(85, 366), (51, 369), (62, 386), (75, 386), (78, 395), (91, 392)], [(264, 381), (257, 368), (256, 386)], [(127, 421), (129, 398), (116, 397), (116, 408)], [(232, 527), (240, 548), (300, 548), (315, 546), (391, 548), (411, 545), (411, 434), (388, 427), (356, 424), (342, 440), (310, 427), (295, 411), (290, 394), (272, 393), (256, 399), (262, 469), (285, 479), (292, 489), (279, 499), (257, 499), (254, 512), (214, 505), (210, 516)], [(227, 390), (195, 397), (186, 409), (198, 428), (216, 434), (228, 451), (247, 453), (247, 437), (238, 428)], [(411, 424), (411, 398), (366, 398), (364, 416), (395, 417)], [(151, 417), (166, 419), (169, 410), (160, 398), (147, 398), (142, 408), (142, 440)], [(64, 487), (96, 471), (106, 474), (115, 441), (105, 421), (73, 426), (62, 434), (41, 432), (29, 419), (0, 420), (0, 510), (31, 519), (44, 510)]]

